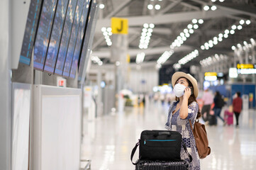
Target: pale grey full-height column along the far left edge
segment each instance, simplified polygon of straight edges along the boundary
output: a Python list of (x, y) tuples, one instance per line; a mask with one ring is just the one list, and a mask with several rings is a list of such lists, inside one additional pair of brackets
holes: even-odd
[(10, 1), (0, 6), (0, 169), (11, 170), (11, 33)]

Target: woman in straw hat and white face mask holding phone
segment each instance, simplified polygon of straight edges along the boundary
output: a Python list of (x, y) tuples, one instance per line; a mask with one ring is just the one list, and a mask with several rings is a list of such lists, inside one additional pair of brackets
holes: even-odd
[[(167, 130), (178, 131), (182, 134), (182, 145), (186, 145), (189, 154), (193, 160), (189, 163), (189, 170), (199, 170), (199, 154), (196, 149), (193, 132), (189, 125), (191, 120), (192, 125), (196, 119), (201, 117), (199, 105), (196, 102), (196, 97), (199, 93), (197, 81), (190, 74), (184, 72), (176, 72), (172, 76), (172, 86), (174, 86), (175, 101), (169, 108), (169, 114), (165, 128)], [(189, 161), (189, 157), (181, 150), (181, 158)]]

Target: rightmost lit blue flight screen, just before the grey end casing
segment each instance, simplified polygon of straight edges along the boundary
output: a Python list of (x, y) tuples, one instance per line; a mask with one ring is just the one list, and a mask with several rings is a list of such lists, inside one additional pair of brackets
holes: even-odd
[(73, 55), (73, 59), (72, 59), (72, 65), (71, 65), (70, 74), (69, 74), (69, 77), (71, 77), (71, 78), (74, 78), (75, 74), (77, 72), (77, 63), (78, 63), (79, 55), (81, 52), (82, 40), (84, 38), (84, 28), (87, 23), (90, 1), (91, 0), (84, 1), (82, 16), (80, 19), (79, 29), (78, 29), (78, 33), (77, 33), (77, 40), (76, 40), (75, 47), (74, 47), (74, 55)]

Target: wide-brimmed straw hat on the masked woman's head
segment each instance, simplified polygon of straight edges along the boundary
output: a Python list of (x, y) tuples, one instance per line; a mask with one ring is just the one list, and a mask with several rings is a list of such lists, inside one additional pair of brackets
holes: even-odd
[(172, 75), (172, 86), (175, 86), (175, 83), (177, 82), (177, 80), (180, 77), (185, 77), (187, 78), (191, 84), (193, 85), (193, 89), (194, 89), (194, 96), (197, 98), (198, 94), (199, 94), (199, 88), (197, 86), (197, 81), (194, 77), (192, 77), (190, 74), (184, 73), (184, 72), (176, 72)]

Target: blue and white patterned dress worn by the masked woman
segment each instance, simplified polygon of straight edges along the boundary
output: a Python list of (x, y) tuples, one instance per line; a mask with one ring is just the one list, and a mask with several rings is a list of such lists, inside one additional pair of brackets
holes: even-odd
[[(179, 111), (180, 109), (172, 114), (173, 111), (175, 111), (175, 108), (177, 106), (177, 101), (174, 101), (170, 108), (167, 118), (167, 123), (165, 124), (165, 128), (167, 130), (177, 131), (182, 134), (182, 145), (187, 146), (187, 150), (189, 154), (191, 154), (193, 160), (191, 163), (189, 163), (189, 170), (200, 170), (200, 162), (199, 162), (199, 154), (196, 149), (196, 142), (194, 140), (193, 132), (190, 128), (189, 119), (191, 120), (192, 125), (194, 126), (194, 122), (196, 120), (196, 115), (199, 111), (199, 105), (194, 101), (189, 104), (188, 106), (188, 116), (186, 119), (181, 119), (179, 117)], [(181, 158), (186, 159), (189, 162), (189, 156), (184, 151), (183, 147), (181, 150)]]

